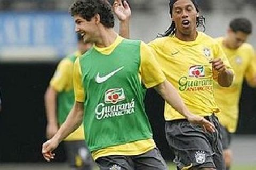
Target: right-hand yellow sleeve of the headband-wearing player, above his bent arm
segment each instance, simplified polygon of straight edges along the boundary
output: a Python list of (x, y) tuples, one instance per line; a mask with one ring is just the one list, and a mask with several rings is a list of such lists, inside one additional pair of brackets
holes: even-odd
[[(234, 74), (234, 70), (232, 69), (232, 67), (231, 67), (231, 65), (230, 65), (230, 63), (229, 63), (228, 58), (227, 58), (225, 52), (223, 51), (223, 49), (221, 48), (221, 46), (217, 43), (217, 41), (216, 41), (216, 43), (214, 44), (214, 47), (213, 47), (213, 48), (214, 48), (214, 56), (213, 56), (213, 57), (214, 57), (214, 58), (220, 58), (220, 59), (223, 61), (223, 63), (224, 63), (224, 65), (225, 65), (226, 69), (232, 71), (233, 74)], [(217, 72), (213, 72), (213, 79), (214, 79), (214, 80), (217, 80), (217, 79), (218, 79), (218, 73), (217, 73)]]

